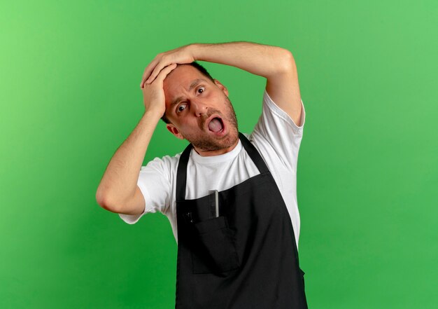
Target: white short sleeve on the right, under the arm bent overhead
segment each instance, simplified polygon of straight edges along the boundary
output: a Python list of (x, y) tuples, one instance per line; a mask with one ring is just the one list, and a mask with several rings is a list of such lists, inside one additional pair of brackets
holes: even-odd
[(252, 133), (253, 138), (262, 139), (264, 144), (269, 144), (271, 151), (277, 154), (286, 167), (296, 165), (306, 119), (302, 101), (301, 106), (301, 121), (297, 124), (264, 90), (262, 115)]

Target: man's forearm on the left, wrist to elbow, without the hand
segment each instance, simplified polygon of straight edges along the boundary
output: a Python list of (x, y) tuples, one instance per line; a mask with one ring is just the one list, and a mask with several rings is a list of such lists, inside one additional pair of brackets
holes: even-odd
[(134, 195), (141, 165), (158, 121), (160, 115), (146, 111), (136, 128), (115, 151), (96, 193), (97, 202), (105, 209), (122, 212), (120, 207), (124, 201)]

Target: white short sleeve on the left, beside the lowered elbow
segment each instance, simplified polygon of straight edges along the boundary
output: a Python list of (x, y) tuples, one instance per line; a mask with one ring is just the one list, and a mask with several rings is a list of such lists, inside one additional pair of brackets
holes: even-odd
[(167, 211), (171, 196), (171, 174), (169, 165), (172, 158), (166, 156), (162, 159), (155, 158), (146, 166), (142, 166), (137, 186), (139, 186), (145, 200), (145, 209), (141, 214), (119, 214), (127, 224), (135, 224), (143, 214)]

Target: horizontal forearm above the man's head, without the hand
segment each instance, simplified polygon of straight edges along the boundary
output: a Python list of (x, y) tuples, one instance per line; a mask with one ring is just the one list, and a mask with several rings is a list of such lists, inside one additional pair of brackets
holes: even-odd
[(257, 43), (195, 43), (188, 48), (195, 60), (227, 64), (265, 78), (288, 71), (294, 64), (289, 50)]

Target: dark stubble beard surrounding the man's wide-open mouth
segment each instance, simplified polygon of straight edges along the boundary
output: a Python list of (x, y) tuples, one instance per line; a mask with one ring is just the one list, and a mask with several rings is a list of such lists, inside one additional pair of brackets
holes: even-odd
[[(204, 131), (206, 120), (213, 114), (220, 115), (222, 121), (227, 125), (228, 132), (223, 137), (215, 137), (209, 134), (209, 132)], [(201, 149), (202, 151), (217, 151), (227, 149), (236, 144), (237, 139), (239, 139), (239, 129), (237, 126), (236, 112), (228, 97), (225, 97), (225, 114), (222, 114), (217, 109), (209, 109), (208, 114), (202, 115), (199, 121), (199, 128), (201, 129), (199, 135), (183, 134), (181, 132), (181, 135), (197, 149)]]

